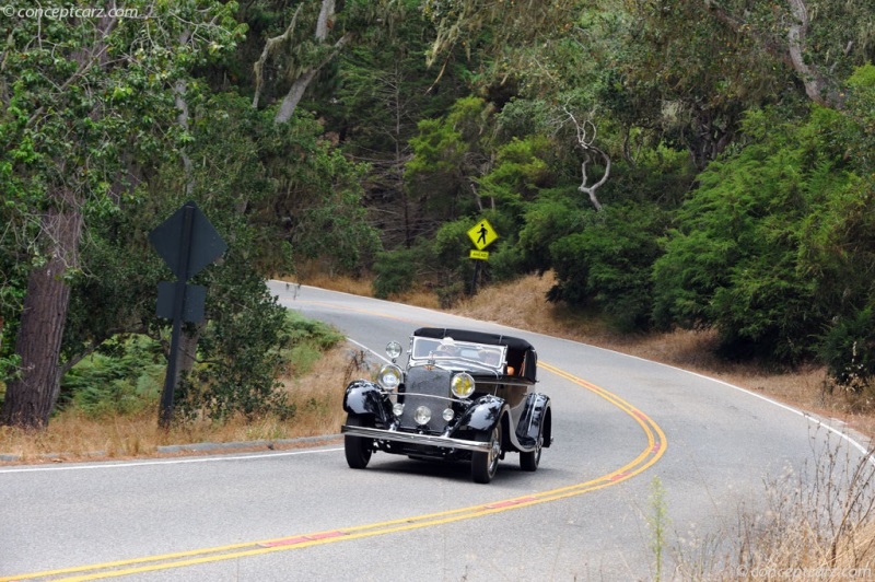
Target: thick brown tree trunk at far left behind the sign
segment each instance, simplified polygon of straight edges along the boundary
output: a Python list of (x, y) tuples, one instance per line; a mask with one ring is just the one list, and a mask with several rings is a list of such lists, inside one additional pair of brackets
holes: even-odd
[[(60, 196), (70, 200), (70, 196)], [(21, 358), (20, 376), (7, 386), (0, 423), (44, 429), (60, 392), (61, 349), (70, 287), (63, 276), (78, 265), (82, 213), (79, 206), (62, 203), (43, 218), (43, 234), (51, 241), (48, 261), (31, 271), (27, 294), (15, 341)]]

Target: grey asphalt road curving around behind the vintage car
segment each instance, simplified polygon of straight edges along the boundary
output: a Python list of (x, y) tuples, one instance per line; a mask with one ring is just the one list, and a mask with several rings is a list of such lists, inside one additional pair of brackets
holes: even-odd
[[(553, 409), (538, 470), (509, 455), (483, 486), (464, 465), (384, 453), (352, 470), (340, 444), (0, 466), (0, 580), (648, 580), (657, 539), (670, 568), (678, 549), (692, 556), (725, 537), (739, 507), (760, 507), (765, 480), (804, 473), (824, 450), (859, 454), (801, 411), (670, 366), (418, 307), (272, 289), (378, 354), (420, 326), (528, 339)], [(649, 525), (660, 504), (662, 537)]]

